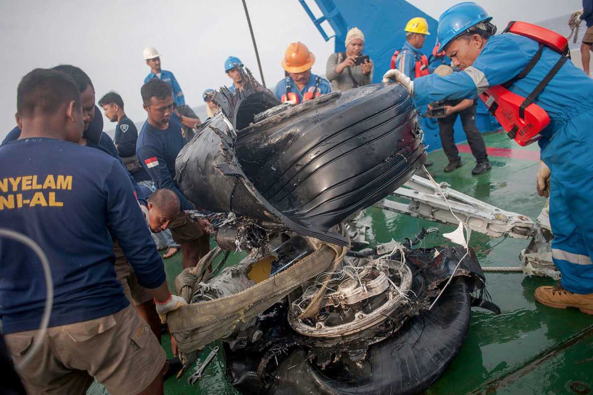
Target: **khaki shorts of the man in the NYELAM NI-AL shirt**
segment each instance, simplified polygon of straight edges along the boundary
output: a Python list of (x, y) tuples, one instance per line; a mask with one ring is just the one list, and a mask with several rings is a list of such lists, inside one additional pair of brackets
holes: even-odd
[[(15, 363), (38, 330), (4, 336)], [(106, 317), (47, 329), (46, 338), (21, 379), (29, 394), (81, 394), (93, 377), (111, 395), (138, 394), (162, 374), (165, 351), (135, 308)]]

